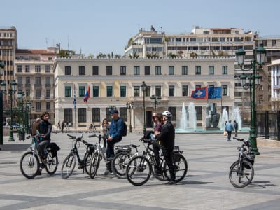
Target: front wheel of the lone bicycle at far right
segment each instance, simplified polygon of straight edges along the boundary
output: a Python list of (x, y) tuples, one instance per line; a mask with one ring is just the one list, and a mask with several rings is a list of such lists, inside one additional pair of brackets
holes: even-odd
[(232, 183), (232, 186), (235, 186), (235, 188), (244, 188), (248, 186), (253, 180), (253, 176), (253, 165), (246, 160), (241, 160), (241, 162), (237, 160), (230, 167), (230, 183)]

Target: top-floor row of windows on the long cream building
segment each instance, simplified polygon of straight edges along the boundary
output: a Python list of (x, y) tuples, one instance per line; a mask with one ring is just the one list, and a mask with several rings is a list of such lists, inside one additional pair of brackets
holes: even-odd
[[(215, 74), (215, 66), (208, 66), (209, 75)], [(71, 66), (65, 66), (65, 75), (71, 75)], [(140, 66), (133, 67), (134, 75), (140, 75)], [(228, 74), (228, 66), (221, 66), (221, 73)], [(78, 67), (78, 74), (85, 75), (85, 66)], [(127, 74), (127, 67), (120, 66), (120, 75)], [(151, 66), (144, 67), (144, 74), (151, 75)], [(175, 75), (175, 66), (168, 66), (168, 74)], [(195, 75), (202, 74), (202, 66), (195, 66)], [(92, 66), (92, 75), (99, 75), (99, 66)], [(113, 66), (106, 66), (106, 75), (113, 75)], [(162, 75), (162, 66), (155, 66), (155, 75)], [(188, 66), (181, 66), (181, 75), (188, 75)]]

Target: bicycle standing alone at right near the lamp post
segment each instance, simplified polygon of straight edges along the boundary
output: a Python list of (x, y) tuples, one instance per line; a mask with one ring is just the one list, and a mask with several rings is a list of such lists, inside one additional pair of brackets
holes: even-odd
[(244, 188), (253, 180), (255, 153), (251, 151), (251, 144), (249, 141), (244, 141), (244, 139), (239, 139), (237, 137), (233, 137), (233, 139), (242, 141), (243, 144), (237, 147), (239, 157), (238, 160), (230, 166), (229, 179), (232, 186)]

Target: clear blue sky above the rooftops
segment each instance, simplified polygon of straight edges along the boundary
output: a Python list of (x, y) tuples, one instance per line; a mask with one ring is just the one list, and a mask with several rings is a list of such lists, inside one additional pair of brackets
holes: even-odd
[(280, 36), (279, 8), (279, 0), (10, 0), (1, 2), (0, 27), (16, 27), (21, 49), (60, 43), (85, 55), (123, 55), (127, 41), (151, 25), (166, 34), (198, 25)]

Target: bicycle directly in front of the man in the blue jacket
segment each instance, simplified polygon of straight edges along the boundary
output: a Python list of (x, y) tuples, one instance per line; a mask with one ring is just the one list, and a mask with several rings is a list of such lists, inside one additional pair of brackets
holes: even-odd
[(94, 153), (92, 154), (92, 159), (90, 162), (90, 178), (94, 179), (94, 177), (97, 174), (97, 170), (100, 165), (100, 161), (103, 159), (105, 162), (105, 165), (109, 165), (110, 161), (106, 159), (106, 149), (104, 147), (104, 144), (101, 143), (101, 139), (104, 139), (106, 141), (106, 137), (102, 137), (101, 134), (98, 136), (96, 134), (90, 135), (90, 137), (97, 137), (99, 141), (94, 145)]

